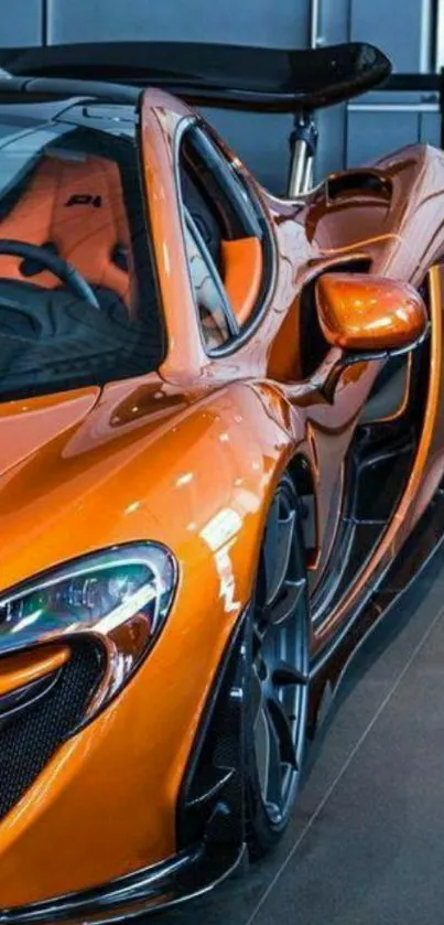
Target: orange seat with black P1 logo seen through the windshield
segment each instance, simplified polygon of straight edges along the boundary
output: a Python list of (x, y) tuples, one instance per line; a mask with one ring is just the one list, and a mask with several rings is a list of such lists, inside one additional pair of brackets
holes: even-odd
[[(0, 238), (28, 244), (51, 241), (91, 286), (112, 290), (131, 313), (130, 273), (115, 262), (116, 249), (131, 260), (130, 233), (119, 169), (95, 155), (69, 160), (46, 155), (9, 215)], [(0, 277), (25, 280), (23, 260), (0, 255)], [(39, 286), (61, 282), (47, 270), (32, 276)]]

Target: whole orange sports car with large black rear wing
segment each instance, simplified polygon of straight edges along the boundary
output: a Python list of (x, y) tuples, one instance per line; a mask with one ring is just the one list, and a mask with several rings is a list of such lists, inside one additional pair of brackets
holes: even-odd
[[(369, 45), (1, 61), (0, 925), (99, 925), (278, 841), (442, 539), (444, 154), (311, 186)], [(210, 103), (295, 114), (288, 195)]]

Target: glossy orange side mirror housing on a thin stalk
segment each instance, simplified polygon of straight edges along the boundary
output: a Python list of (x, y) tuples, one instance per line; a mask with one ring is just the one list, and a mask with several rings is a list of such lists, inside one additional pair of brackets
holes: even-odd
[(425, 304), (408, 283), (367, 273), (325, 273), (316, 283), (325, 340), (349, 353), (413, 346), (427, 324)]

